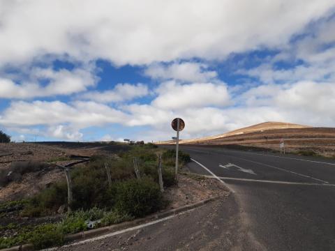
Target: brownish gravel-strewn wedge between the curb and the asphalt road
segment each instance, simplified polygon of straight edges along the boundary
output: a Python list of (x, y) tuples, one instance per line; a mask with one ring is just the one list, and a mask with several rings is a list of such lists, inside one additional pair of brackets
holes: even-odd
[(221, 191), (216, 201), (170, 220), (57, 250), (262, 250), (244, 227), (234, 195)]

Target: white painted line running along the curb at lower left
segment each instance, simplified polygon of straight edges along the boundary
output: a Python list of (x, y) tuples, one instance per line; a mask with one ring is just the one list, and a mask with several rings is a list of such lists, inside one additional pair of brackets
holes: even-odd
[(77, 241), (75, 243), (71, 243), (71, 244), (68, 244), (68, 245), (63, 245), (63, 246), (57, 247), (57, 248), (47, 248), (47, 249), (44, 249), (44, 250), (41, 250), (41, 251), (58, 250), (59, 248), (69, 248), (69, 247), (72, 247), (72, 246), (75, 246), (75, 245), (80, 245), (80, 244), (84, 244), (84, 243), (91, 243), (93, 241), (99, 241), (99, 240), (102, 240), (104, 238), (116, 236), (116, 235), (119, 235), (119, 234), (124, 234), (124, 233), (126, 233), (128, 231), (133, 231), (133, 230), (141, 229), (141, 228), (144, 228), (144, 227), (149, 227), (151, 225), (155, 225), (155, 224), (157, 224), (159, 222), (170, 220), (170, 219), (172, 219), (172, 218), (174, 218), (174, 217), (176, 217), (178, 215), (182, 215), (184, 213), (188, 213), (188, 212), (191, 212), (193, 210), (195, 210), (195, 208), (192, 208), (192, 209), (190, 209), (188, 211), (184, 211), (184, 212), (177, 213), (177, 214), (174, 214), (174, 215), (170, 215), (168, 217), (165, 217), (165, 218), (162, 218), (162, 219), (159, 219), (159, 220), (154, 220), (154, 221), (142, 224), (142, 225), (138, 225), (138, 226), (135, 226), (135, 227), (129, 227), (128, 229), (122, 229), (122, 230), (119, 230), (119, 231), (114, 231), (113, 233), (110, 233), (110, 234), (104, 234), (102, 236), (98, 236), (98, 237), (94, 237), (94, 238), (89, 238), (89, 239), (86, 239), (84, 241)]

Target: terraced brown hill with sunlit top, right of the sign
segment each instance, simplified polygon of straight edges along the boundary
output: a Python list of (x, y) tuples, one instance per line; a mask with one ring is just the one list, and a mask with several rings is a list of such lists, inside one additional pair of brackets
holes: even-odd
[[(259, 123), (221, 135), (184, 139), (180, 144), (251, 146), (278, 151), (281, 139), (285, 141), (287, 152), (335, 157), (335, 128), (313, 128), (283, 122)], [(174, 144), (174, 142), (167, 141), (160, 144)]]

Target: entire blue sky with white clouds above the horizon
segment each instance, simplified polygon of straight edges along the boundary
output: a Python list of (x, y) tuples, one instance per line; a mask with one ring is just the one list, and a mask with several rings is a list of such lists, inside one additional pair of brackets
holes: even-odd
[(0, 130), (156, 142), (335, 127), (334, 0), (0, 0)]

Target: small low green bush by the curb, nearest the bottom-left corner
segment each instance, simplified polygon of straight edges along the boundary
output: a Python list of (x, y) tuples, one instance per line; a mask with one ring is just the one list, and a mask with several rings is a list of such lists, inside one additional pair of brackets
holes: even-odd
[(49, 248), (54, 245), (62, 245), (64, 243), (64, 234), (59, 225), (40, 225), (31, 233), (29, 241), (34, 245), (35, 249)]

